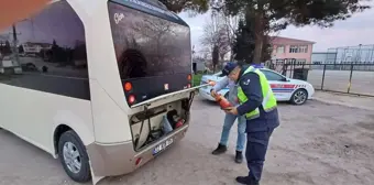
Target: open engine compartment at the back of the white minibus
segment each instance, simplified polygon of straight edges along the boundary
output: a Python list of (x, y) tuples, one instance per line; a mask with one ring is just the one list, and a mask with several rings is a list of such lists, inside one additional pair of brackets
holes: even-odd
[(173, 133), (189, 123), (191, 98), (179, 99), (146, 109), (130, 117), (130, 128), (135, 151)]

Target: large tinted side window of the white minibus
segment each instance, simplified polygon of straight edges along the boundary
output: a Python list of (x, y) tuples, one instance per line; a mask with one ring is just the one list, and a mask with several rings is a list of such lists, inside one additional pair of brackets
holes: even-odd
[(66, 1), (0, 33), (0, 83), (89, 99), (85, 30)]

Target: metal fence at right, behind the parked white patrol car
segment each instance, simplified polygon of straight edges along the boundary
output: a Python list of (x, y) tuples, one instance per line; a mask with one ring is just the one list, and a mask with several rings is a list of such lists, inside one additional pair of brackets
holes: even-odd
[(277, 64), (278, 73), (309, 81), (315, 89), (374, 97), (374, 63)]

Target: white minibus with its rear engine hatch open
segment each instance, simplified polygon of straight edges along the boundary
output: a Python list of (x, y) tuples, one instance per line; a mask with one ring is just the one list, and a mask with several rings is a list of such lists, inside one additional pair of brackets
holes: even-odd
[(184, 138), (190, 29), (158, 1), (54, 0), (0, 35), (0, 128), (75, 182), (130, 173)]

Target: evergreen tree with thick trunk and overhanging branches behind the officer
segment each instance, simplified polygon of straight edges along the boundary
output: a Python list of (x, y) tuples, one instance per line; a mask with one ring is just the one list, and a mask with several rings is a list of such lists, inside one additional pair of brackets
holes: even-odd
[(267, 29), (284, 30), (289, 24), (296, 26), (332, 26), (337, 20), (345, 20), (355, 12), (364, 11), (371, 0), (226, 0), (229, 14), (252, 14), (254, 19), (254, 62), (261, 62), (263, 34)]

